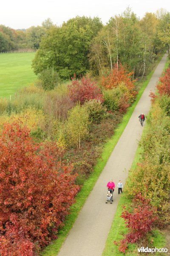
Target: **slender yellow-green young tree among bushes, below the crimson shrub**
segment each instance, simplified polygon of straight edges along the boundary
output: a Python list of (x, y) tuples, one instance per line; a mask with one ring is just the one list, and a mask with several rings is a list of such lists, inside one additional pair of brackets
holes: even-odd
[(88, 118), (86, 108), (79, 104), (68, 112), (66, 134), (70, 146), (77, 145), (80, 148), (81, 141), (88, 134)]

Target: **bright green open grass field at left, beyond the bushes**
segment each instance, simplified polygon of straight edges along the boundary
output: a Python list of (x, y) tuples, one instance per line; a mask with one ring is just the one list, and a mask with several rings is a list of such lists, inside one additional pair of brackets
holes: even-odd
[(34, 81), (34, 55), (35, 52), (0, 54), (0, 97), (8, 97)]

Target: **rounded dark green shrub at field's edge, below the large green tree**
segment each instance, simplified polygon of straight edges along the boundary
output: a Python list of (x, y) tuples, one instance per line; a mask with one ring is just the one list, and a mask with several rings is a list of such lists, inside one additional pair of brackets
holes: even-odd
[(53, 90), (61, 82), (57, 71), (53, 68), (42, 70), (38, 78), (44, 90)]

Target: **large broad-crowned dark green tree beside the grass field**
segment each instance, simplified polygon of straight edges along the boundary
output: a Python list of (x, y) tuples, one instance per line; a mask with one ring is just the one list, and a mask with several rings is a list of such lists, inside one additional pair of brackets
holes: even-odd
[(89, 70), (89, 49), (92, 39), (102, 28), (99, 18), (75, 17), (53, 26), (42, 38), (33, 68), (36, 74), (45, 67), (54, 67), (59, 76), (68, 79), (74, 75), (84, 75)]

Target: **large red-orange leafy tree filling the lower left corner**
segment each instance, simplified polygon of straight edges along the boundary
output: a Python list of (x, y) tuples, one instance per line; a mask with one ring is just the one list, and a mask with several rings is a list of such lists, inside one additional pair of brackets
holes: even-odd
[[(0, 255), (32, 256), (57, 238), (79, 187), (54, 145), (35, 144), (21, 122), (0, 137)], [(56, 147), (57, 151), (57, 147)]]

